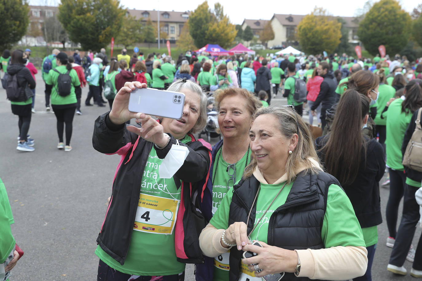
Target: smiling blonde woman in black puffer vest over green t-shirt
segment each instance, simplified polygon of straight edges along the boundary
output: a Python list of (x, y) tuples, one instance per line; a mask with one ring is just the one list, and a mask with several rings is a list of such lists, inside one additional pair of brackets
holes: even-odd
[[(296, 132), (304, 137), (298, 138)], [(280, 272), (287, 280), (295, 278), (293, 273), (303, 278), (348, 280), (365, 273), (367, 251), (353, 206), (340, 183), (322, 171), (309, 128), (300, 115), (291, 107), (260, 108), (249, 137), (252, 161), (202, 230), (202, 252), (218, 257), (219, 270), (226, 273), (227, 257), (222, 253), (230, 249), (230, 264), (239, 265), (230, 268), (233, 280), (255, 281)], [(312, 193), (311, 203), (308, 196)], [(316, 211), (317, 205), (324, 209)], [(254, 240), (264, 249), (251, 245)], [(257, 255), (241, 260), (243, 251)], [(337, 259), (342, 265), (329, 262)], [(314, 266), (316, 261), (324, 270)], [(227, 281), (228, 274), (223, 276), (214, 274), (213, 280)]]

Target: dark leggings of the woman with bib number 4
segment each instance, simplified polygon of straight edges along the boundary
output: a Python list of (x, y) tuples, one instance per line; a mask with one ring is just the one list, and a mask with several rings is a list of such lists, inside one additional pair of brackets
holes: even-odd
[(114, 268), (109, 267), (105, 262), (100, 260), (98, 263), (98, 274), (97, 281), (128, 281), (128, 280), (138, 280), (138, 281), (184, 281), (184, 271), (180, 274), (165, 275), (161, 276), (139, 276), (138, 278), (133, 278), (131, 274), (123, 273), (115, 270)]

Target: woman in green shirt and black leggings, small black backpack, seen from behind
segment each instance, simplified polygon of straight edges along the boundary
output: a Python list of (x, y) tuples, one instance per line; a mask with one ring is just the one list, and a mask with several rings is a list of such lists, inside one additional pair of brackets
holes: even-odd
[[(97, 59), (97, 58), (96, 58)], [(101, 59), (100, 59), (101, 60)], [(95, 61), (95, 59), (94, 59)], [(46, 91), (51, 94), (51, 106), (54, 115), (57, 118), (57, 134), (59, 136), (58, 149), (65, 149), (66, 152), (72, 150), (70, 146), (70, 138), (73, 131), (73, 116), (76, 111), (76, 91), (81, 91), (81, 82), (79, 82), (78, 74), (72, 68), (72, 64), (68, 61), (68, 55), (60, 52), (56, 56), (57, 67), (49, 71), (46, 76)], [(66, 74), (70, 76), (69, 94), (60, 93), (59, 89), (63, 85), (59, 85), (59, 75)], [(63, 143), (63, 133), (66, 125), (66, 143)]]

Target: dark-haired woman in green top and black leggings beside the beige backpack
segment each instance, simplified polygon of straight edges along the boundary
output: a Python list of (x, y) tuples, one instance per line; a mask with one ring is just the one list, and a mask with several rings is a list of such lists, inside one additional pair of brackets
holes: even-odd
[[(387, 119), (387, 167), (390, 174), (390, 195), (386, 206), (386, 220), (389, 232), (387, 237), (387, 245), (393, 246), (397, 235), (397, 218), (400, 200), (403, 197), (404, 186), (406, 185), (406, 175), (403, 173), (402, 164), (403, 154), (402, 145), (406, 129), (410, 123), (412, 115), (420, 107), (422, 107), (422, 91), (420, 86), (422, 80), (411, 80), (405, 88), (405, 94), (400, 99), (396, 99), (390, 103), (388, 110), (383, 113), (382, 117)], [(408, 248), (407, 248), (408, 249)], [(390, 263), (391, 260), (390, 260)], [(400, 267), (402, 265), (395, 264)]]

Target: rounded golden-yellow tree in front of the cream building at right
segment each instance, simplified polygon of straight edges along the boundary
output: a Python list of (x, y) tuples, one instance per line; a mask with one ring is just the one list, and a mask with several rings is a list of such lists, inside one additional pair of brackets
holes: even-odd
[(315, 7), (298, 25), (298, 38), (306, 54), (332, 53), (340, 44), (341, 23), (329, 16), (327, 11)]

